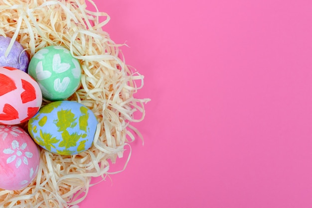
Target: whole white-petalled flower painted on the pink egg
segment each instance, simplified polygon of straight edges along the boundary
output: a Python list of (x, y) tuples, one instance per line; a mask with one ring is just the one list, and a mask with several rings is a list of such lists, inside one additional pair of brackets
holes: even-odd
[(21, 146), (19, 146), (18, 141), (13, 140), (12, 141), (12, 148), (6, 148), (3, 150), (4, 154), (10, 154), (11, 156), (6, 159), (6, 164), (12, 163), (15, 161), (15, 167), (19, 168), (19, 166), (22, 164), (22, 162), (25, 165), (28, 165), (28, 159), (32, 158), (31, 152), (24, 151), (27, 147), (26, 143), (23, 143)]

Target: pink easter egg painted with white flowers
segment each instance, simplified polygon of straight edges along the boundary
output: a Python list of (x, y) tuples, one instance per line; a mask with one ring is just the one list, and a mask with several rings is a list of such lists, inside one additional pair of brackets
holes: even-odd
[(39, 160), (37, 145), (22, 128), (0, 125), (0, 189), (28, 186), (37, 175)]

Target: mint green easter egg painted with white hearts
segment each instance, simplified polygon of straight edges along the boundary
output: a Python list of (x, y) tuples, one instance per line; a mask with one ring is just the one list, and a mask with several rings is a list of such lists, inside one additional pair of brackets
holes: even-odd
[(81, 65), (68, 49), (48, 46), (31, 58), (28, 74), (38, 82), (45, 99), (60, 101), (70, 97), (80, 86)]

